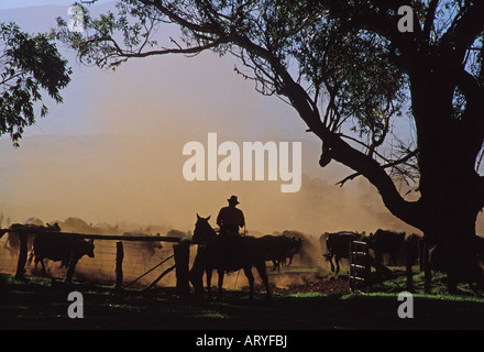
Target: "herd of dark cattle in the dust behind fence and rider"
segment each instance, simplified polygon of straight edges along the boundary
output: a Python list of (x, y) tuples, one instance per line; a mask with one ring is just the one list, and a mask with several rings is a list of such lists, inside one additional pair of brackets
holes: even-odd
[[(42, 231), (42, 233), (38, 233)], [(47, 276), (45, 260), (61, 262), (61, 266), (67, 268), (66, 279), (72, 280), (77, 262), (85, 255), (95, 256), (94, 241), (86, 241), (79, 235), (61, 233), (57, 223), (38, 224), (12, 224), (9, 228), (4, 246), (10, 251), (18, 251), (20, 248), (19, 234), (26, 234), (30, 256), (28, 263), (34, 262), (42, 266), (43, 275)], [(125, 233), (133, 237), (133, 233)], [(273, 271), (280, 271), (280, 265), (290, 265), (295, 254), (299, 254), (299, 262), (315, 265), (315, 252), (322, 253), (322, 257), (329, 261), (331, 272), (340, 271), (341, 258), (349, 257), (350, 244), (352, 241), (362, 241), (372, 250), (373, 264), (378, 267), (385, 258), (389, 265), (402, 265), (402, 257), (406, 255), (415, 261), (418, 257), (418, 241), (413, 241), (417, 235), (406, 235), (404, 232), (393, 232), (378, 229), (370, 235), (356, 232), (341, 231), (323, 233), (319, 238), (320, 252), (315, 249), (312, 241), (298, 232), (285, 231), (279, 235), (263, 235), (264, 248), (267, 249), (265, 260), (273, 263)], [(261, 242), (261, 243), (262, 243)], [(411, 243), (411, 245), (408, 245)], [(155, 250), (162, 248), (161, 242), (147, 242), (150, 248), (142, 248), (139, 255), (154, 255)], [(140, 244), (142, 246), (142, 244)], [(407, 252), (410, 250), (410, 255)], [(405, 253), (404, 253), (405, 252)], [(321, 254), (319, 254), (321, 257)], [(333, 263), (334, 260), (334, 263)], [(305, 262), (306, 261), (306, 262)]]

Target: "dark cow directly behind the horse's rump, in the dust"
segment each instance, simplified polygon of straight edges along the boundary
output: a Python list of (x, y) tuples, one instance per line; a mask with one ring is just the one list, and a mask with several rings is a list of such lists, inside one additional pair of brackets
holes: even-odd
[(280, 271), (280, 263), (285, 263), (289, 258), (289, 265), (293, 262), (294, 254), (298, 253), (301, 248), (302, 240), (288, 238), (285, 235), (266, 234), (260, 238), (261, 246), (264, 251), (266, 261), (272, 261), (273, 271)]

